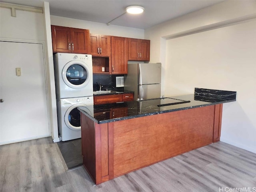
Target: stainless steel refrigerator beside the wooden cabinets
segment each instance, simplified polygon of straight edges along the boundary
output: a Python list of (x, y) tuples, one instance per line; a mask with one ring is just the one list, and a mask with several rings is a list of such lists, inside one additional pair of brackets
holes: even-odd
[(134, 100), (161, 96), (161, 63), (128, 64), (124, 89), (134, 91)]

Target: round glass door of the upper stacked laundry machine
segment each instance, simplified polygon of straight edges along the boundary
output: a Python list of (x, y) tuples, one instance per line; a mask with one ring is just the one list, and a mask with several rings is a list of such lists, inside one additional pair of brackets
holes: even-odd
[(86, 63), (70, 61), (62, 69), (62, 79), (65, 84), (74, 89), (83, 88), (90, 81), (92, 74)]

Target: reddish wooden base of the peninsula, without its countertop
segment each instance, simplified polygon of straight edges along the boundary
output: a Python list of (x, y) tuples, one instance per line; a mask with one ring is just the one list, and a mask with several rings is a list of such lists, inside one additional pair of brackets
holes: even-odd
[(97, 124), (81, 113), (83, 164), (96, 184), (220, 140), (222, 104)]

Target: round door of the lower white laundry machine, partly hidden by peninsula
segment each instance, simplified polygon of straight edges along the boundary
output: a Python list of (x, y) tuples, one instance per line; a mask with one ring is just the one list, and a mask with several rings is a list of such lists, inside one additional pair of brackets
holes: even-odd
[[(83, 106), (85, 107), (83, 110), (86, 111), (86, 105), (85, 104), (74, 104), (65, 113), (64, 121), (68, 128), (75, 131), (81, 130), (81, 122), (80, 122), (80, 111), (77, 109), (77, 107)], [(91, 114), (90, 110), (86, 111), (88, 114)]]

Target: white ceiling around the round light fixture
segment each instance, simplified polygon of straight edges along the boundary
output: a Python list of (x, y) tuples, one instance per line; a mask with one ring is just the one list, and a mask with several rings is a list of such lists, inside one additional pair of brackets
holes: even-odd
[(50, 4), (50, 14), (80, 20), (108, 23), (125, 13), (127, 6), (137, 5), (145, 11), (124, 14), (111, 25), (146, 29), (167, 20), (222, 2), (222, 0), (0, 0), (13, 4), (42, 7)]

